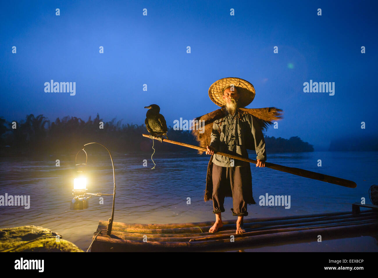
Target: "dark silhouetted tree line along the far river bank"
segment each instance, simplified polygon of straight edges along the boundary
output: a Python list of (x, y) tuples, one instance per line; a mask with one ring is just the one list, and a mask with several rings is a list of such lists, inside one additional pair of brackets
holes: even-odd
[[(87, 122), (77, 117), (59, 117), (50, 122), (43, 115), (35, 117), (27, 115), (25, 120), (17, 122), (17, 128), (12, 129), (11, 122), (0, 118), (0, 143), (1, 149), (6, 153), (14, 154), (72, 154), (76, 153), (82, 145), (89, 142), (99, 142), (118, 153), (152, 152), (152, 141), (142, 137), (142, 133), (148, 134), (144, 124), (122, 124), (122, 120), (113, 118), (104, 122), (99, 114), (95, 119), (88, 118)], [(104, 122), (104, 128), (100, 129), (100, 122)], [(9, 126), (9, 128), (6, 127)], [(198, 145), (190, 131), (174, 130), (168, 128), (169, 139)], [(303, 142), (298, 136), (290, 139), (281, 137), (265, 137), (267, 153), (273, 152), (300, 152), (313, 151), (312, 145)], [(9, 145), (11, 148), (3, 148)], [(156, 151), (189, 151), (189, 149), (164, 144), (155, 140)]]

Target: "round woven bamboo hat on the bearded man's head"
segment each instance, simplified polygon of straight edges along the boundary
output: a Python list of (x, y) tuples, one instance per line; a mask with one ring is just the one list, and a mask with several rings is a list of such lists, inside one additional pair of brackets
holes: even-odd
[(237, 77), (226, 77), (212, 83), (209, 88), (209, 97), (216, 105), (223, 107), (226, 102), (223, 100), (223, 91), (234, 85), (239, 93), (238, 107), (246, 107), (255, 97), (255, 88), (248, 81)]

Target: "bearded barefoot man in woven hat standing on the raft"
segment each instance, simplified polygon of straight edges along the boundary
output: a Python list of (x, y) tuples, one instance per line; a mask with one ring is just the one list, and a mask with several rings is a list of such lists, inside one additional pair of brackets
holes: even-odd
[[(218, 80), (218, 82), (221, 80)], [(218, 96), (216, 94), (217, 90), (219, 93), (223, 93), (222, 99), (226, 113), (224, 117), (215, 120), (213, 123), (211, 143), (206, 146), (206, 154), (213, 155), (214, 151), (219, 151), (248, 158), (246, 145), (253, 143), (257, 154), (256, 167), (265, 167), (265, 141), (259, 121), (253, 115), (242, 113), (239, 110), (240, 107), (246, 105), (245, 103), (248, 102), (248, 105), (253, 100), (254, 88), (252, 84), (245, 80), (243, 81), (248, 84), (243, 86), (243, 84), (240, 84), (240, 80), (238, 83), (235, 82), (235, 84), (229, 84), (222, 88), (222, 91), (220, 91), (218, 84), (213, 88), (214, 94), (211, 93), (211, 87), (209, 89), (209, 96), (213, 101), (214, 99), (218, 102), (221, 100), (220, 94)], [(243, 91), (243, 94), (239, 91)], [(247, 142), (248, 140), (253, 140), (254, 142)], [(213, 155), (212, 162), (214, 163), (212, 166), (212, 201), (215, 223), (209, 229), (209, 232), (217, 232), (223, 226), (221, 213), (225, 212), (223, 207), (225, 191), (227, 187), (231, 187), (233, 203), (231, 211), (233, 216), (238, 216), (236, 234), (244, 233), (243, 217), (248, 215), (247, 203), (256, 204), (252, 197), (250, 164), (249, 162), (231, 159), (216, 153)]]

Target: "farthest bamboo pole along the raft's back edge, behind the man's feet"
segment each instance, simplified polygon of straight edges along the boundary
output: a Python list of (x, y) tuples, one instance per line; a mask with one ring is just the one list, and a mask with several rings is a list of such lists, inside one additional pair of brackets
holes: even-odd
[[(364, 216), (373, 216), (376, 217), (378, 214), (376, 212), (370, 212), (364, 214)], [(339, 216), (325, 216), (327, 219), (324, 219), (325, 221), (330, 221), (330, 220), (336, 220), (336, 219), (348, 219), (348, 218), (361, 218), (361, 216), (355, 216), (352, 213), (350, 215), (339, 215)], [(306, 223), (306, 222), (314, 222), (314, 221), (321, 221), (322, 218), (307, 218), (307, 219), (284, 219), (284, 220), (279, 220), (279, 221), (265, 221), (265, 222), (260, 222), (262, 224), (257, 224), (257, 223), (244, 223), (244, 227), (248, 228), (249, 226), (254, 226), (254, 227), (264, 227), (266, 225), (284, 225), (284, 224), (299, 224), (299, 223)], [(100, 221), (99, 222), (99, 227), (103, 226), (105, 224), (105, 221)], [(235, 225), (235, 224), (234, 224)], [(187, 233), (205, 233), (208, 232), (210, 227), (212, 226), (192, 226), (192, 227), (185, 227), (185, 228), (166, 228), (166, 229), (141, 229), (141, 228), (133, 228), (133, 227), (127, 227), (127, 230), (124, 228), (124, 223), (121, 222), (113, 222), (113, 229), (114, 230), (122, 230), (124, 232), (133, 232), (133, 233), (153, 233), (153, 234), (187, 234)], [(225, 227), (225, 228), (223, 228)], [(222, 228), (226, 229), (226, 227), (232, 227), (232, 224), (225, 224)]]

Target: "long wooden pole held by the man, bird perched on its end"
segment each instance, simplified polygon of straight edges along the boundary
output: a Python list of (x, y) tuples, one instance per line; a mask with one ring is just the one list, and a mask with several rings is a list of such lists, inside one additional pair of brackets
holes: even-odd
[[(142, 134), (142, 135), (144, 137), (150, 137), (147, 134)], [(157, 139), (157, 137), (155, 137), (155, 136), (152, 136), (152, 138)], [(162, 139), (162, 141), (167, 142), (167, 143), (171, 143), (171, 144), (175, 144), (175, 145), (184, 146), (184, 147), (187, 147), (187, 148), (192, 148), (192, 149), (195, 149), (195, 150), (206, 151), (206, 148), (197, 147), (197, 146), (194, 146), (194, 145), (185, 144), (185, 143), (181, 143), (181, 142), (177, 142), (177, 141), (172, 141), (172, 140), (168, 140), (168, 139)], [(249, 162), (249, 163), (257, 164), (257, 161), (253, 160), (253, 159), (242, 158), (240, 156), (235, 156), (233, 154), (228, 154), (228, 153), (221, 153), (220, 151), (214, 151), (214, 153), (220, 154), (222, 156), (227, 156), (229, 158), (239, 159), (241, 161), (246, 161), (246, 162)], [(282, 165), (279, 165), (279, 164), (273, 164), (273, 163), (269, 163), (269, 162), (265, 162), (265, 167), (268, 167), (268, 168), (271, 168), (271, 169), (274, 169), (274, 170), (279, 170), (279, 171), (286, 172), (286, 173), (290, 173), (290, 174), (293, 174), (293, 175), (309, 178), (309, 179), (317, 179), (318, 181), (329, 182), (331, 184), (337, 184), (337, 185), (350, 187), (350, 188), (356, 188), (357, 187), (357, 185), (354, 181), (349, 181), (347, 179), (337, 178), (337, 177), (334, 177), (334, 176), (328, 176), (328, 175), (324, 175), (324, 174), (321, 174), (321, 173), (316, 173), (316, 172), (313, 172), (313, 171), (308, 171), (308, 170), (304, 170), (304, 169), (300, 169), (300, 168), (282, 166)]]

